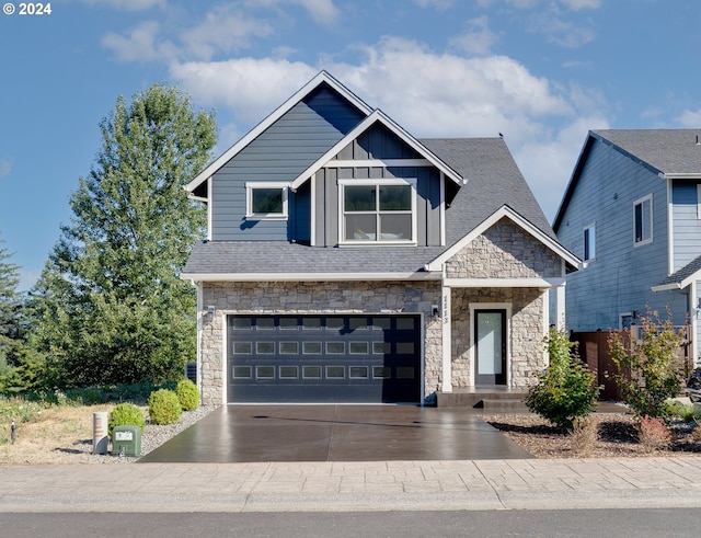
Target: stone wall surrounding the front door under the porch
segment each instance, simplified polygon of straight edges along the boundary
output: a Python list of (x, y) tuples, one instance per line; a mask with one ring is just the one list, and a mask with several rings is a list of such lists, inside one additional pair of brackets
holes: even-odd
[(452, 288), (452, 388), (472, 384), (470, 369), (470, 304), (506, 302), (512, 306), (507, 320), (510, 332), (510, 360), (507, 359), (508, 382), (525, 387), (535, 371), (544, 367), (545, 327), (543, 323), (544, 294), (535, 288)]

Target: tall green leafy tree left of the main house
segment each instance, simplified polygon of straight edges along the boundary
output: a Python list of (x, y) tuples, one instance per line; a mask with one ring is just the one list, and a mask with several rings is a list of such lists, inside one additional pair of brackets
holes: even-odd
[(214, 113), (175, 88), (119, 98), (33, 290), (51, 382), (158, 381), (195, 356), (195, 294), (179, 278), (206, 215), (183, 186), (211, 158)]

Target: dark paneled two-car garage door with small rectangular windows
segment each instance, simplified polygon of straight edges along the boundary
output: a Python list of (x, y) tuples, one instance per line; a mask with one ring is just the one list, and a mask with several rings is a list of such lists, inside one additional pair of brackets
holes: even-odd
[(229, 316), (228, 401), (418, 402), (418, 316)]

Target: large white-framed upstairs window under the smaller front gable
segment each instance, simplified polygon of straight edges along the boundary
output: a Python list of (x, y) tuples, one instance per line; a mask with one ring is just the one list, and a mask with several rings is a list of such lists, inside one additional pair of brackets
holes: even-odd
[(340, 180), (341, 242), (416, 242), (416, 180)]

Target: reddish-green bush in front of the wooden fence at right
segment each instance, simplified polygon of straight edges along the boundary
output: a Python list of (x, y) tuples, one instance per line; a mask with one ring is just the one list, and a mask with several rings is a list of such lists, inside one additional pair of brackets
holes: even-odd
[(676, 397), (681, 388), (683, 375), (675, 358), (682, 336), (669, 318), (660, 321), (655, 311), (641, 321), (642, 343), (631, 350), (623, 344), (620, 332), (609, 334), (611, 358), (619, 369), (613, 379), (635, 416), (664, 416), (667, 399)]

